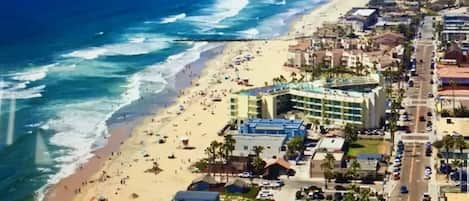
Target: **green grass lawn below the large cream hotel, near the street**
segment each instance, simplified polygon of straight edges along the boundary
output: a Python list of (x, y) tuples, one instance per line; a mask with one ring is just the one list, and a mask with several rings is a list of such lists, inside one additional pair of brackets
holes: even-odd
[(382, 140), (357, 140), (349, 146), (347, 154), (352, 157), (356, 157), (359, 154), (388, 154), (386, 153), (387, 144), (387, 142)]

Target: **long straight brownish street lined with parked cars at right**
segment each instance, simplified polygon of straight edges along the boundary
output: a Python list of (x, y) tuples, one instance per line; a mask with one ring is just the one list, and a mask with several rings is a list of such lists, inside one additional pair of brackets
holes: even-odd
[[(425, 166), (430, 166), (430, 158), (425, 156), (424, 142), (430, 139), (429, 135), (433, 135), (432, 131), (427, 130), (427, 121), (432, 121), (432, 118), (427, 116), (427, 112), (434, 114), (433, 98), (429, 96), (433, 91), (433, 86), (430, 83), (433, 79), (433, 70), (430, 65), (434, 51), (431, 17), (424, 19), (424, 25), (420, 28), (420, 32), (422, 37), (415, 43), (417, 76), (411, 77), (414, 81), (413, 87), (406, 85), (403, 100), (410, 119), (405, 124), (411, 129), (411, 134), (401, 134), (400, 136), (405, 145), (405, 152), (401, 167), (401, 179), (391, 192), (390, 200), (393, 201), (418, 201), (422, 199), (423, 193), (428, 191), (428, 181), (424, 179), (424, 171)], [(400, 193), (400, 187), (403, 185), (407, 186), (408, 194)]]

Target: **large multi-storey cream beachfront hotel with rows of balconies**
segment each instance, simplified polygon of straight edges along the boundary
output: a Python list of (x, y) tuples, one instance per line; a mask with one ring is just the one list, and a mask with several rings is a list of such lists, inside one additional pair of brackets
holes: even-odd
[(336, 126), (380, 127), (386, 95), (378, 74), (314, 82), (279, 83), (234, 93), (230, 116), (238, 123), (253, 118), (295, 118)]

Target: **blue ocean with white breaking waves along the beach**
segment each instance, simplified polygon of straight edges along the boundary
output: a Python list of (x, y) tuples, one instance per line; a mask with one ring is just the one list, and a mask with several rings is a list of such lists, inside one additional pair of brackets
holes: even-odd
[[(0, 5), (0, 201), (40, 200), (113, 125), (171, 103), (222, 43), (271, 38), (327, 0), (15, 0)], [(187, 81), (186, 81), (187, 82)]]

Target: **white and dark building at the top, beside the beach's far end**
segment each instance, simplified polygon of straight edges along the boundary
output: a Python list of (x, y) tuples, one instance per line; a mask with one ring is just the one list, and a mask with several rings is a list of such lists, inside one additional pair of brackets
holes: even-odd
[(379, 11), (375, 8), (352, 8), (345, 15), (345, 22), (355, 31), (365, 31), (378, 22)]

